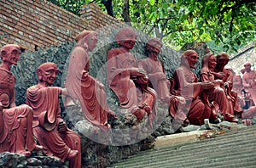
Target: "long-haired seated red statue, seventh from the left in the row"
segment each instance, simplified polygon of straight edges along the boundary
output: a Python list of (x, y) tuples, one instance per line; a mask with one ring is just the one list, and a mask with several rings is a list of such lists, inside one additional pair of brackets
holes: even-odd
[(231, 122), (237, 122), (238, 120), (234, 118), (234, 115), (230, 115), (233, 112), (233, 105), (230, 99), (227, 98), (226, 92), (224, 90), (224, 81), (216, 79), (214, 80), (214, 75), (212, 70), (214, 70), (217, 64), (217, 59), (212, 53), (207, 53), (202, 60), (201, 68), (201, 81), (212, 81), (214, 83), (214, 89), (209, 90), (207, 97), (210, 102), (215, 101), (221, 114), (224, 116), (224, 120)]

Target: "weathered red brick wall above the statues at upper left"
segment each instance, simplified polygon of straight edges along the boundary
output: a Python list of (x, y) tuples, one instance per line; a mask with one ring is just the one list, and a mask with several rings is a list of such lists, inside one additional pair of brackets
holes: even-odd
[(96, 4), (84, 5), (83, 9), (79, 17), (46, 0), (1, 0), (0, 48), (16, 43), (35, 51), (73, 41), (84, 29), (95, 30), (118, 21), (102, 13)]

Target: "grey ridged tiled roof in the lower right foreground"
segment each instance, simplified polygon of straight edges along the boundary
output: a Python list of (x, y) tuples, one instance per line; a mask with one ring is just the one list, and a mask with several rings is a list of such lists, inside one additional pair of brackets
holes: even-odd
[(110, 167), (256, 167), (256, 126), (153, 148)]

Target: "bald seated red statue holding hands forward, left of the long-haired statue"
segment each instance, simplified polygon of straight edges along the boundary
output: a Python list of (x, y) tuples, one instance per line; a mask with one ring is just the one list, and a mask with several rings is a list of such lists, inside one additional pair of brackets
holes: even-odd
[(190, 124), (201, 126), (205, 119), (216, 120), (215, 104), (203, 102), (201, 94), (214, 89), (212, 81), (199, 82), (195, 73), (190, 69), (195, 69), (195, 64), (199, 59), (194, 50), (187, 50), (181, 57), (181, 65), (175, 70), (173, 79), (175, 80), (175, 89), (186, 99), (187, 112)]

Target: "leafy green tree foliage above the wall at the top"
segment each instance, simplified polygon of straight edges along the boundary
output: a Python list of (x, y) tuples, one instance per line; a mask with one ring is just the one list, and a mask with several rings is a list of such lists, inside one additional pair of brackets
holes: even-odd
[[(107, 14), (160, 37), (172, 48), (188, 42), (208, 42), (211, 49), (236, 51), (256, 38), (253, 0), (49, 0), (79, 14), (96, 3)], [(222, 46), (222, 48), (219, 48)]]

